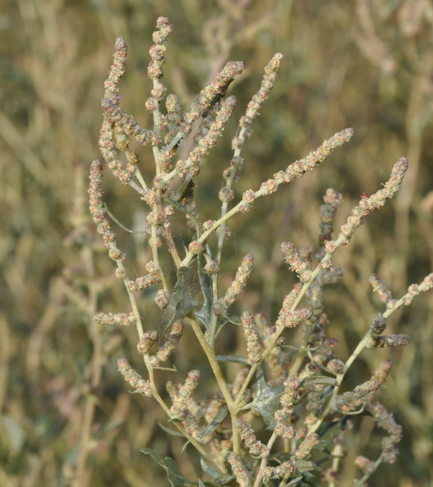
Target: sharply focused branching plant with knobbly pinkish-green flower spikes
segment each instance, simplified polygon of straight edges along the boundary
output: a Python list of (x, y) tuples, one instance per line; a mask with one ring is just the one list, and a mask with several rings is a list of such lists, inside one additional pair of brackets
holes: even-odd
[[(232, 186), (239, 181), (244, 163), (243, 144), (251, 136), (253, 120), (277, 79), (282, 55), (276, 54), (266, 66), (261, 86), (240, 118), (237, 135), (232, 139), (233, 158), (222, 173), (219, 191), (221, 213), (215, 220), (203, 222), (195, 199), (200, 187), (200, 161), (222, 135), (235, 108), (236, 98), (226, 97), (226, 93), (235, 76), (242, 74), (245, 64), (229, 61), (183, 111), (178, 97), (166, 95), (166, 88), (160, 82), (167, 37), (172, 29), (167, 18), (157, 19), (148, 67), (153, 89), (146, 101), (146, 108), (153, 115), (153, 129), (142, 129), (119, 106), (119, 81), (125, 71), (127, 52), (122, 37), (116, 40), (114, 62), (105, 81), (101, 103), (104, 120), (99, 144), (105, 164), (122, 185), (137, 191), (143, 204), (148, 206), (145, 232), (149, 236), (152, 260), (146, 265), (147, 275), (138, 279), (128, 276), (124, 265), (126, 255), (118, 248), (116, 235), (110, 230), (109, 217), (114, 217), (102, 203), (102, 167), (98, 160), (93, 161), (90, 171), (90, 211), (109, 257), (117, 264), (117, 277), (125, 284), (132, 308), (129, 314), (100, 313), (95, 319), (101, 324), (130, 324), (137, 328), (135, 353), (143, 356), (143, 367), (135, 371), (127, 358), (121, 358), (118, 370), (135, 392), (146, 396), (143, 408), (145, 401), (157, 400), (169, 422), (164, 430), (177, 429), (188, 448), (198, 451), (202, 478), (198, 482), (188, 480), (171, 458), (151, 449), (142, 451), (165, 468), (172, 486), (193, 482), (194, 485), (241, 487), (319, 485), (318, 482), (335, 486), (340, 463), (344, 462), (342, 445), (344, 431), (351, 425), (349, 418), (368, 412), (386, 435), (378, 458), (359, 456), (355, 460), (362, 472), (355, 485), (362, 486), (380, 463), (395, 461), (396, 444), (401, 438), (401, 427), (395, 423), (392, 413), (373, 400), (374, 392), (387, 379), (391, 363), (389, 360), (382, 362), (369, 380), (350, 392), (341, 393), (340, 386), (364, 348), (409, 343), (405, 335), (382, 335), (387, 318), (400, 306), (410, 304), (417, 294), (433, 287), (433, 274), (421, 284), (411, 285), (399, 300), (392, 297), (377, 275), (371, 276), (373, 290), (385, 309), (372, 319), (365, 336), (346, 362), (335, 358), (336, 340), (326, 335), (328, 317), (323, 312), (323, 287), (342, 279), (343, 269), (332, 263), (334, 252), (340, 245), (350, 243), (366, 215), (383, 206), (399, 190), (408, 161), (404, 157), (397, 161), (382, 189), (371, 196), (361, 196), (335, 240), (331, 237), (333, 221), (342, 197), (334, 189), (328, 189), (320, 208), (316, 252), (298, 251), (291, 242), (281, 244), (282, 256), (299, 281), (293, 289), (287, 290), (278, 316), (253, 316), (248, 311), (240, 317), (234, 316), (230, 306), (247, 285), (254, 258), (247, 254), (240, 259), (235, 280), (221, 293), (218, 273), (224, 240), (230, 236), (226, 221), (236, 213), (249, 211), (259, 198), (275, 193), (280, 185), (294, 182), (323, 163), (336, 148), (352, 138), (354, 130), (349, 128), (336, 133), (303, 159), (274, 174), (258, 189), (246, 190), (242, 199), (230, 207), (234, 199)], [(161, 111), (164, 100), (165, 110)], [(192, 124), (198, 119), (200, 125), (188, 156), (177, 159), (179, 142), (190, 135)], [(146, 182), (140, 173), (138, 156), (129, 147), (130, 137), (152, 149), (156, 168), (152, 182)], [(126, 164), (118, 158), (118, 150), (124, 152)], [(191, 241), (187, 248), (179, 248), (174, 240), (174, 215), (177, 222), (184, 218), (189, 229)], [(177, 269), (172, 283), (168, 270), (161, 267), (162, 262), (167, 262), (166, 256), (161, 258), (164, 253), (173, 259)], [(162, 321), (156, 323), (143, 320), (139, 313), (138, 298), (143, 294), (139, 291), (150, 286), (157, 288), (155, 302), (163, 312)], [(306, 307), (299, 307), (302, 299)], [(167, 367), (171, 367), (175, 377), (176, 364), (170, 364), (170, 357), (182, 341), (185, 326), (194, 331), (197, 346), (207, 357), (206, 366), (210, 366), (217, 385), (212, 397), (199, 401), (194, 399), (194, 391), (199, 386), (200, 370), (178, 377), (179, 383), (167, 382), (166, 392), (157, 389), (156, 375), (160, 369), (164, 368), (167, 374), (170, 370)], [(232, 326), (243, 329), (244, 355), (217, 356), (216, 338)], [(302, 327), (302, 340), (288, 345), (283, 331), (296, 326)], [(190, 343), (188, 347), (194, 350)], [(225, 369), (227, 362), (238, 364), (237, 373), (229, 379)], [(256, 425), (260, 424), (261, 430), (257, 431)], [(258, 433), (263, 441), (256, 438)]]

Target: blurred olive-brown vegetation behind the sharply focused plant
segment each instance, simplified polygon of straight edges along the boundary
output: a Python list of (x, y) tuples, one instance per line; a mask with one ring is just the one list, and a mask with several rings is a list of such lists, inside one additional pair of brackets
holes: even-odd
[[(294, 282), (281, 265), (280, 243), (315, 248), (327, 187), (343, 194), (340, 225), (360, 194), (379, 189), (393, 164), (408, 157), (397, 198), (370, 215), (335, 256), (346, 274), (327, 289), (325, 311), (330, 335), (339, 340), (337, 356), (345, 359), (383, 310), (369, 274), (379, 273), (399, 298), (432, 271), (433, 2), (1, 0), (0, 12), (0, 485), (168, 485), (165, 472), (140, 453), (144, 447), (172, 456), (195, 479), (197, 460), (189, 449), (181, 452), (180, 438), (160, 434), (157, 422), (166, 418), (156, 403), (130, 394), (117, 372), (120, 356), (142, 366), (134, 353), (135, 330), (100, 330), (91, 319), (96, 311), (129, 312), (114, 264), (99, 252), (87, 216), (88, 167), (100, 157), (100, 98), (115, 39), (123, 36), (129, 46), (121, 106), (144, 127), (150, 126), (146, 68), (158, 16), (175, 25), (163, 82), (184, 108), (227, 60), (247, 63), (230, 89), (238, 98), (235, 115), (196, 181), (202, 221), (216, 218), (237, 120), (276, 52), (284, 55), (280, 77), (244, 146), (236, 198), (336, 131), (355, 129), (352, 141), (325, 165), (229, 222), (223, 285), (244, 253), (256, 259), (240, 311), (276, 318)], [(140, 149), (139, 156), (150, 180), (151, 151)], [(112, 212), (124, 225), (142, 229), (143, 203), (110, 171), (104, 174)], [(178, 238), (181, 243), (181, 233)], [(145, 240), (122, 231), (118, 240), (129, 270), (145, 274)], [(149, 327), (155, 326), (152, 292), (140, 303)], [(354, 386), (383, 358), (394, 364), (380, 400), (394, 411), (404, 438), (397, 464), (381, 466), (372, 487), (431, 485), (432, 312), (430, 294), (395, 313), (388, 329), (409, 334), (412, 343), (370, 350), (351, 370)], [(221, 350), (224, 341), (236, 343), (236, 330), (227, 333)], [(184, 340), (184, 349), (192, 345), (191, 361), (174, 360), (183, 374), (178, 380), (200, 368), (203, 358), (193, 355), (192, 337)], [(161, 387), (168, 378), (173, 375), (160, 374)], [(358, 453), (377, 456), (380, 438), (370, 418), (355, 420), (341, 485), (359, 476), (353, 464)]]

